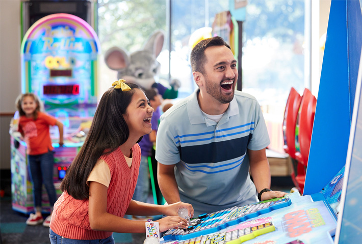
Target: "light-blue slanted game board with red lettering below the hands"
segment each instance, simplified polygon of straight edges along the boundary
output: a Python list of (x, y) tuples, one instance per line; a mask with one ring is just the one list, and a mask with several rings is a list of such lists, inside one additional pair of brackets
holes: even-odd
[[(317, 193), (318, 198), (323, 198), (322, 193)], [(198, 230), (193, 233), (185, 231), (184, 235), (177, 235), (172, 231), (172, 238), (165, 240), (161, 238), (162, 244), (316, 244), (316, 243), (333, 243), (332, 236), (334, 236), (337, 221), (332, 212), (332, 209), (327, 207), (326, 201), (314, 201), (311, 195), (300, 196), (299, 193), (287, 194), (285, 198), (288, 201), (287, 206), (282, 206), (275, 210), (255, 215), (254, 218), (249, 218), (246, 221), (240, 221), (237, 224), (233, 221), (219, 226), (224, 227), (219, 229), (212, 227), (205, 230)], [(279, 199), (280, 200), (280, 199)], [(275, 201), (275, 200), (274, 200)], [(290, 204), (289, 204), (290, 203)], [(257, 204), (257, 203), (256, 203)], [(288, 205), (289, 204), (289, 205)], [(254, 204), (251, 204), (254, 205)], [(225, 216), (230, 215), (230, 210), (225, 209), (220, 212), (229, 211)], [(211, 214), (213, 215), (213, 214)], [(210, 215), (210, 216), (211, 216)], [(249, 216), (251, 217), (251, 216)], [(220, 217), (218, 217), (220, 218)], [(218, 219), (216, 218), (216, 219)], [(241, 219), (241, 218), (240, 218)], [(192, 220), (192, 222), (197, 219)], [(204, 221), (206, 222), (206, 221)], [(219, 221), (220, 222), (220, 221)], [(234, 223), (234, 224), (233, 224)], [(215, 224), (215, 223), (214, 223)], [(252, 232), (256, 227), (261, 228), (263, 225), (272, 225), (274, 231), (268, 232), (254, 232), (252, 238), (248, 235), (248, 230)], [(195, 225), (197, 227), (197, 225)], [(245, 233), (241, 230), (244, 230)], [(166, 232), (167, 233), (167, 232)], [(186, 234), (188, 233), (188, 234)], [(227, 239), (231, 233), (231, 239)], [(242, 238), (240, 238), (242, 237)]]

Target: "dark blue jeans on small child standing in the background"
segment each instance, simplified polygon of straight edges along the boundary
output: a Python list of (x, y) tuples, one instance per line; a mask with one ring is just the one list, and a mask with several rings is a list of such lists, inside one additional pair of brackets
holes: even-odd
[(30, 177), (33, 181), (34, 207), (41, 207), (42, 184), (44, 183), (49, 197), (50, 207), (57, 201), (57, 193), (53, 184), (54, 153), (28, 155)]

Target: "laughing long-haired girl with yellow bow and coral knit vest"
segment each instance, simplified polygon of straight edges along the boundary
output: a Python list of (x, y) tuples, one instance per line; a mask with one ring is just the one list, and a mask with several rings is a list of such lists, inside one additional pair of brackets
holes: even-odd
[(63, 179), (50, 223), (51, 243), (114, 243), (112, 232), (145, 232), (145, 221), (125, 219), (126, 214), (174, 216), (158, 221), (160, 232), (187, 228), (187, 221), (177, 216), (180, 207), (193, 216), (190, 204), (132, 200), (141, 160), (137, 142), (152, 131), (153, 108), (137, 85), (119, 80), (112, 86), (100, 99), (86, 140)]

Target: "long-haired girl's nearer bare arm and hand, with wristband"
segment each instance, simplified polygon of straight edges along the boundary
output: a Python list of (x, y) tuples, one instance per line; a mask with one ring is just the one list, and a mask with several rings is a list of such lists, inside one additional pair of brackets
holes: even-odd
[[(132, 209), (142, 208), (143, 204), (130, 204)], [(147, 206), (146, 206), (147, 207)], [(141, 210), (141, 209), (140, 209)], [(128, 220), (107, 212), (107, 187), (95, 182), (89, 182), (89, 223), (93, 230), (112, 231), (119, 233), (143, 233), (145, 221)], [(166, 217), (159, 221), (160, 232), (171, 228), (187, 228), (187, 222), (181, 217)]]

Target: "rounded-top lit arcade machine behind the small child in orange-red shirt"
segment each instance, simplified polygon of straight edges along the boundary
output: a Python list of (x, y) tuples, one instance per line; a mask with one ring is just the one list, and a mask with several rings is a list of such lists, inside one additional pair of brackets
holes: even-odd
[[(54, 184), (60, 182), (82, 146), (97, 105), (97, 57), (99, 41), (93, 28), (71, 14), (51, 14), (35, 22), (21, 43), (21, 92), (34, 93), (45, 112), (64, 125), (64, 146), (59, 147), (57, 128), (50, 128), (54, 141)], [(18, 113), (12, 119), (12, 207), (33, 211), (32, 183), (28, 173), (27, 145), (17, 132)], [(47, 194), (43, 210), (48, 211)]]

